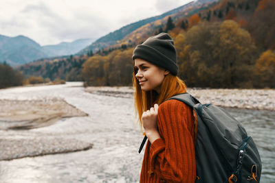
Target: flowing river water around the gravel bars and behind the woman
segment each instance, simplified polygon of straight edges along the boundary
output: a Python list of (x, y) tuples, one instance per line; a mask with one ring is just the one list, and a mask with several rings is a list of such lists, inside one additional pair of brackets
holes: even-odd
[[(0, 138), (56, 136), (94, 143), (87, 151), (0, 161), (0, 182), (139, 182), (143, 153), (138, 154), (137, 150), (142, 134), (135, 123), (133, 99), (85, 93), (81, 85), (68, 82), (0, 90), (0, 99), (60, 97), (89, 114), (38, 129), (0, 130)], [(275, 112), (226, 110), (243, 121), (259, 147), (263, 162), (261, 182), (274, 182)]]

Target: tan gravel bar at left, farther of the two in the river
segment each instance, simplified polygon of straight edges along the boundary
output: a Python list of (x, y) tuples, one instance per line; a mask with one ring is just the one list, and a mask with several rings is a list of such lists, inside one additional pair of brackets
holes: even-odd
[(63, 99), (40, 100), (0, 99), (0, 129), (28, 130), (52, 125), (69, 117), (85, 117), (88, 114)]

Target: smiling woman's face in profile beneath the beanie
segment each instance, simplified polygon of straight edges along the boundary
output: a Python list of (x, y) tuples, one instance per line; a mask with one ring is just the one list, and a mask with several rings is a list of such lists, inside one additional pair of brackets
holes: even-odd
[(168, 73), (169, 71), (159, 66), (140, 58), (135, 58), (135, 77), (144, 91), (156, 90), (159, 93), (164, 76)]

